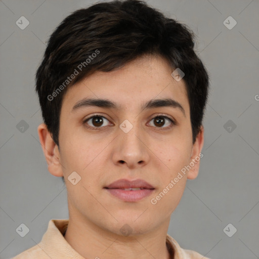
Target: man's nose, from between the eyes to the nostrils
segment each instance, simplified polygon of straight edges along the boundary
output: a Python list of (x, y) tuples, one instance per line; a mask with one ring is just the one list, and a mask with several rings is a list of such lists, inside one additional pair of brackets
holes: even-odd
[(127, 168), (146, 165), (150, 160), (149, 148), (144, 133), (137, 126), (125, 133), (118, 129), (119, 136), (112, 152), (113, 163)]

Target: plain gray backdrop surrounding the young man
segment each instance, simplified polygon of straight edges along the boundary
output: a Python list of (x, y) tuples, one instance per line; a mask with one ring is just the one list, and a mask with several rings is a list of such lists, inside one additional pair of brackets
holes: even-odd
[[(210, 258), (259, 258), (259, 2), (147, 2), (196, 33), (211, 78), (199, 176), (188, 180), (168, 234)], [(68, 218), (66, 188), (48, 172), (37, 136), (34, 74), (55, 27), (93, 3), (0, 1), (0, 258), (38, 243), (49, 220)], [(16, 25), (21, 16), (29, 21), (24, 30)], [(229, 16), (237, 21), (232, 29), (223, 23)], [(16, 126), (21, 120), (29, 125), (24, 132)], [(21, 223), (30, 230), (23, 238), (16, 233)], [(232, 237), (223, 232), (229, 223), (237, 229)]]

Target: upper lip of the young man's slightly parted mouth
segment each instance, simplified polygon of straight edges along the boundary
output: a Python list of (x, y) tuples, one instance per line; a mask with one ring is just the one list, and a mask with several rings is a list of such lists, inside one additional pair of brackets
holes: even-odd
[(119, 188), (145, 188), (145, 189), (155, 189), (151, 184), (147, 183), (142, 179), (137, 179), (130, 181), (127, 179), (117, 180), (110, 185), (106, 186), (108, 189), (119, 189)]

